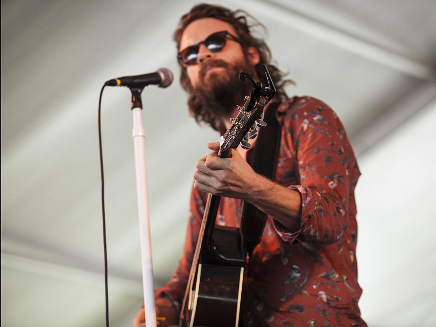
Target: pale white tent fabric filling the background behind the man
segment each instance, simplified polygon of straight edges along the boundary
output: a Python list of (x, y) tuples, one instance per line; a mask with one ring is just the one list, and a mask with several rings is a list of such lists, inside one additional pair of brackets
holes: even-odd
[[(172, 32), (196, 3), (2, 1), (2, 325), (104, 324), (98, 95), (106, 80), (159, 67), (174, 83), (143, 91), (142, 116), (155, 283), (168, 280), (195, 162), (219, 137), (189, 117), (177, 83)], [(274, 59), (296, 82), (288, 94), (322, 99), (347, 129), (363, 173), (362, 317), (372, 326), (435, 325), (436, 174), (422, 166), (436, 159), (436, 3), (220, 4), (264, 23)], [(142, 301), (131, 129), (130, 91), (104, 89), (111, 325), (130, 325)]]

